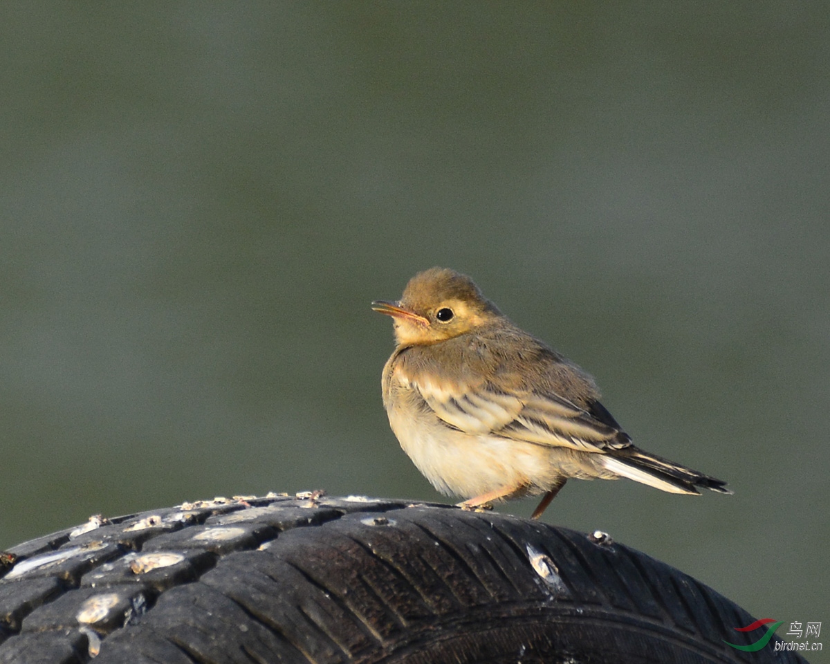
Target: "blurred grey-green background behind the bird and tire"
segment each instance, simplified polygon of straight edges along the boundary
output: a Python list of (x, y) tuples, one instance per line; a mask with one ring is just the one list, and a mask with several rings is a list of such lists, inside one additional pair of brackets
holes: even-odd
[(369, 309), (440, 265), (735, 490), (572, 481), (545, 520), (830, 620), (826, 2), (35, 7), (0, 10), (0, 548), (217, 495), (447, 500)]

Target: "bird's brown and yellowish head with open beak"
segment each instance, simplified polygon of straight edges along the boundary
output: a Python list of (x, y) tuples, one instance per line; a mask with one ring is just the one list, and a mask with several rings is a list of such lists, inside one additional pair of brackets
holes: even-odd
[(501, 315), (469, 276), (442, 267), (413, 276), (399, 302), (378, 300), (372, 309), (392, 316), (398, 345), (435, 344)]

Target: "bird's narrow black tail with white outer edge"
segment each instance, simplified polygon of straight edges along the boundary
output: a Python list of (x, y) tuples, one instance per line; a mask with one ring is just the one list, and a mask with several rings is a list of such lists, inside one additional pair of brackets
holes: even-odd
[(647, 454), (633, 445), (598, 455), (596, 462), (619, 476), (669, 493), (700, 496), (701, 492), (697, 491), (699, 486), (718, 493), (732, 493), (726, 488), (725, 481), (693, 471), (654, 454)]

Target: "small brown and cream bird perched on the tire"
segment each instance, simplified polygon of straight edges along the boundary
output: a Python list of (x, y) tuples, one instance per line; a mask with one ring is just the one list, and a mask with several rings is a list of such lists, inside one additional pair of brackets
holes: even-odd
[(401, 300), (372, 309), (393, 319), (396, 347), (382, 377), (389, 425), (437, 491), (466, 499), (462, 509), (542, 496), (539, 519), (571, 478), (732, 493), (635, 447), (594, 379), (520, 330), (469, 276), (433, 267), (413, 276)]

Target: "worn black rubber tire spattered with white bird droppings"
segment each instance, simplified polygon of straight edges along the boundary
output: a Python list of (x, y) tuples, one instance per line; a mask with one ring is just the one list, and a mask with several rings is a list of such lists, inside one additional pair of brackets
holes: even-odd
[(395, 500), (216, 499), (0, 557), (0, 662), (804, 662), (645, 554)]

